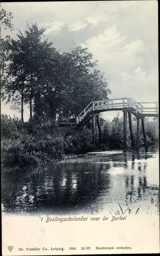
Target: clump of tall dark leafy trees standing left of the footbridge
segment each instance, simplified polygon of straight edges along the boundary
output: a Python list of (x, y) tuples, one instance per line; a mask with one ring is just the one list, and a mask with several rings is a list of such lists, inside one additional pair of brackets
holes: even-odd
[(13, 108), (30, 104), (41, 122), (76, 118), (92, 100), (108, 98), (108, 82), (97, 69), (97, 61), (87, 48), (74, 47), (60, 53), (43, 39), (45, 30), (27, 24), (24, 33), (5, 41), (5, 77), (2, 98)]

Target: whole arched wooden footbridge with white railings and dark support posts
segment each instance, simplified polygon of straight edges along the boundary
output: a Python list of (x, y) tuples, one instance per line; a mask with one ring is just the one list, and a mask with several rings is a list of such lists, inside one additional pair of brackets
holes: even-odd
[(135, 140), (132, 133), (132, 119), (131, 115), (137, 118), (137, 153), (140, 151), (140, 119), (142, 123), (143, 138), (145, 143), (145, 150), (148, 152), (147, 137), (145, 132), (145, 117), (158, 117), (158, 102), (136, 102), (131, 98), (118, 98), (93, 101), (86, 106), (86, 108), (77, 116), (77, 127), (84, 126), (92, 119), (92, 136), (93, 143), (95, 142), (95, 122), (97, 120), (99, 139), (101, 141), (101, 127), (99, 122), (99, 113), (106, 111), (122, 111), (123, 112), (123, 151), (127, 149), (127, 114), (129, 121), (130, 139), (132, 147), (135, 146)]

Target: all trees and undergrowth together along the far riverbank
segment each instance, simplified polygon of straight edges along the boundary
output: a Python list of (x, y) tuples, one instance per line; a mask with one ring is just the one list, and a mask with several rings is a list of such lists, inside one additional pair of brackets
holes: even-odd
[[(2, 25), (7, 30), (16, 29), (12, 14), (4, 9), (1, 12)], [(102, 141), (99, 143), (96, 127), (94, 145), (90, 122), (81, 129), (59, 126), (60, 122), (75, 122), (88, 103), (108, 99), (111, 90), (87, 48), (74, 46), (62, 52), (44, 32), (35, 23), (27, 24), (24, 31), (17, 30), (15, 38), (1, 37), (1, 97), (21, 113), (21, 119), (1, 115), (3, 166), (40, 165), (68, 154), (121, 150), (123, 119), (119, 115), (112, 121), (100, 117)], [(23, 116), (25, 104), (30, 109), (28, 121)], [(136, 140), (136, 120), (132, 122)], [(148, 145), (158, 143), (157, 118), (146, 120), (146, 134)]]

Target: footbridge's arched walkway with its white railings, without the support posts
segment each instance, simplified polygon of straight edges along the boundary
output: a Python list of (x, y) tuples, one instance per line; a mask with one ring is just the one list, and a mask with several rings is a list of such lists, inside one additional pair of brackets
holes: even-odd
[(105, 111), (127, 111), (136, 117), (157, 117), (158, 102), (136, 102), (131, 98), (93, 101), (77, 116), (76, 123), (85, 125), (93, 114)]

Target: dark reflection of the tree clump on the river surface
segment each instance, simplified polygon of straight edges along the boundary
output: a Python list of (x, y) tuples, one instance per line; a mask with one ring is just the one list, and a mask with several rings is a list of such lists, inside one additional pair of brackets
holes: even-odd
[(3, 185), (4, 209), (7, 212), (67, 211), (75, 210), (75, 206), (82, 209), (93, 204), (101, 191), (109, 189), (109, 168), (110, 164), (93, 162), (60, 163), (56, 168), (49, 167), (47, 173), (15, 177), (14, 182), (6, 177), (9, 183)]

